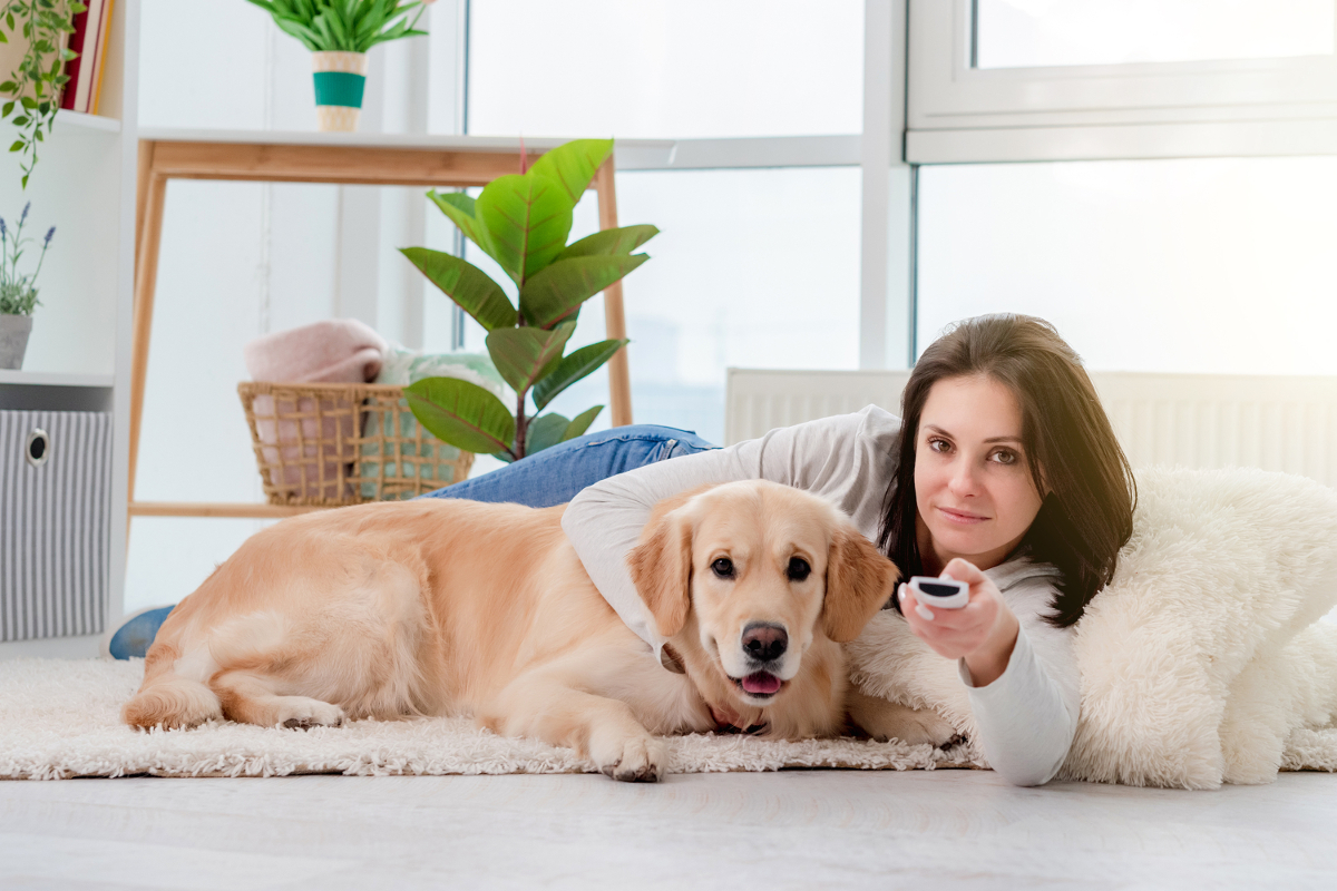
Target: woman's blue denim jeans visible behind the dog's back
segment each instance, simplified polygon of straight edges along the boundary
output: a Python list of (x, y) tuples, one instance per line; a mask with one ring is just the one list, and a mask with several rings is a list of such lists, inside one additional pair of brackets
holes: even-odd
[(571, 501), (582, 489), (600, 480), (717, 448), (691, 430), (636, 423), (576, 437), (477, 480), (456, 482), (420, 497), (511, 501), (531, 508), (551, 508)]

